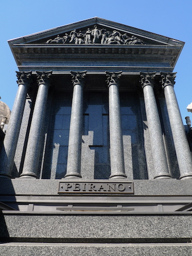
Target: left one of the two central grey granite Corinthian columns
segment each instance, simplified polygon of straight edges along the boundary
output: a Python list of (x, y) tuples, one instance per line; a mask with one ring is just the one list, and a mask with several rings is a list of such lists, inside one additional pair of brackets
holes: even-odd
[(86, 71), (71, 72), (73, 82), (72, 113), (70, 115), (67, 178), (81, 178), (81, 143), (83, 118), (83, 92)]

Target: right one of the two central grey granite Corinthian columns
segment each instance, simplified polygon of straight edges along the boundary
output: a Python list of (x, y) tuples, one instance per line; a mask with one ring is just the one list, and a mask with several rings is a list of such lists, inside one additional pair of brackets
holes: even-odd
[(122, 72), (106, 72), (110, 127), (110, 178), (127, 177), (124, 169), (122, 122), (120, 119), (119, 78)]

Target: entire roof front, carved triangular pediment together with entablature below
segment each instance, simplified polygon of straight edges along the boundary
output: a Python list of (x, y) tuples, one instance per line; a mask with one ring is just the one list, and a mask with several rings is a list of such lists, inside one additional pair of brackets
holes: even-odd
[(172, 72), (184, 43), (95, 17), (9, 45), (20, 71)]

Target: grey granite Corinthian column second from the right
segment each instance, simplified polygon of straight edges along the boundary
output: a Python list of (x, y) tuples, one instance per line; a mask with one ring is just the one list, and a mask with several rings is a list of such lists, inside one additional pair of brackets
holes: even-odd
[(151, 141), (153, 166), (155, 170), (154, 179), (170, 178), (168, 162), (166, 159), (164, 141), (162, 139), (161, 123), (158, 114), (155, 94), (153, 91), (153, 80), (155, 73), (140, 73), (141, 86), (143, 88), (145, 112)]

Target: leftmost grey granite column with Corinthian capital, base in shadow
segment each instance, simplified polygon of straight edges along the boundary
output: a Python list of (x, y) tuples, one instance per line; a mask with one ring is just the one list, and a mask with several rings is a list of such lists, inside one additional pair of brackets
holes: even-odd
[(30, 72), (17, 72), (18, 91), (16, 93), (15, 102), (12, 107), (9, 126), (7, 127), (5, 139), (0, 156), (0, 176), (11, 177), (12, 166), (14, 164), (14, 156), (16, 145), (18, 143), (20, 125), (22, 123), (24, 104), (26, 102), (27, 90), (31, 82)]

